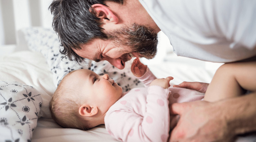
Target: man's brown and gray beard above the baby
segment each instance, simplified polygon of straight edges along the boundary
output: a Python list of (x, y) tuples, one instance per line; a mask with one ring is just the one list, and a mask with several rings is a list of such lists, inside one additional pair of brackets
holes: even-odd
[[(139, 53), (141, 57), (153, 59), (157, 54), (157, 33), (146, 26), (133, 24), (131, 27), (123, 27), (106, 34), (117, 46), (128, 46), (132, 52)], [(128, 56), (123, 55), (122, 59), (127, 61)]]

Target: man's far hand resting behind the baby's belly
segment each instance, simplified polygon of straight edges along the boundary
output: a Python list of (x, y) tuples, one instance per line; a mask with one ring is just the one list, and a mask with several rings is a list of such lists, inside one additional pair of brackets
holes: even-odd
[(201, 93), (205, 93), (208, 85), (209, 83), (184, 81), (179, 85), (173, 85), (173, 87), (188, 88), (188, 89), (199, 91)]

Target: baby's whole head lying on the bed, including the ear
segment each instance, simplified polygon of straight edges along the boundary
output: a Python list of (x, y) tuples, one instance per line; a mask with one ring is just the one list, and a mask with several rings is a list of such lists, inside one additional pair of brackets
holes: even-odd
[(122, 88), (91, 70), (68, 73), (54, 92), (52, 118), (64, 128), (88, 130), (104, 124), (107, 110), (122, 96)]

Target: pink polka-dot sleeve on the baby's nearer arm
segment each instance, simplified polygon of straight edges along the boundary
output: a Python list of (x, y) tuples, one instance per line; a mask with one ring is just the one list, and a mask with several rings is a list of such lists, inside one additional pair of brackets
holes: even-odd
[[(165, 142), (169, 136), (169, 90), (160, 86), (150, 86), (147, 95), (147, 112), (142, 126), (144, 132), (153, 136), (152, 141)], [(152, 131), (153, 129), (154, 131)]]

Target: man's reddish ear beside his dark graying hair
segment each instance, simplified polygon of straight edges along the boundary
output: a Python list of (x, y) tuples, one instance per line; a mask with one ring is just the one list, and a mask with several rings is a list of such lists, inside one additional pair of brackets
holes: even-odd
[(107, 6), (103, 4), (93, 4), (92, 8), (96, 12), (96, 16), (102, 19), (103, 23), (118, 23), (118, 17)]

